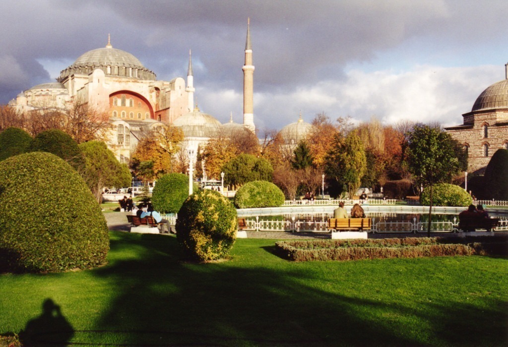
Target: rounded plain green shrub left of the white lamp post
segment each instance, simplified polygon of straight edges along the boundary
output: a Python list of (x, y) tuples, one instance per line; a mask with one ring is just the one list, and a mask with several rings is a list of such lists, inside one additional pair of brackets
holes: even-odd
[[(193, 191), (197, 191), (193, 185)], [(160, 213), (177, 213), (189, 196), (189, 177), (183, 173), (168, 173), (155, 182), (152, 192), (153, 209)]]

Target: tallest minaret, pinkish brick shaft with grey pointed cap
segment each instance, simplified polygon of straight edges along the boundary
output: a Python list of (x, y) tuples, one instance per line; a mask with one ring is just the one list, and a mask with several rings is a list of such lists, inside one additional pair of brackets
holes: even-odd
[(252, 65), (252, 45), (250, 43), (250, 18), (247, 19), (247, 40), (245, 41), (245, 65), (243, 65), (243, 125), (252, 131), (254, 125), (254, 65)]

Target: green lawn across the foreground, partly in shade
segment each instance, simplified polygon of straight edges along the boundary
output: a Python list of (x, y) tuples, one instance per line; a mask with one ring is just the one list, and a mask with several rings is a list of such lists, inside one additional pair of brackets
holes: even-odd
[[(50, 345), (508, 344), (507, 259), (294, 263), (275, 240), (238, 239), (230, 260), (195, 264), (174, 236), (110, 235), (104, 267), (1, 275), (0, 334), (31, 321), (60, 330), (39, 335)], [(46, 299), (63, 318), (42, 315)]]

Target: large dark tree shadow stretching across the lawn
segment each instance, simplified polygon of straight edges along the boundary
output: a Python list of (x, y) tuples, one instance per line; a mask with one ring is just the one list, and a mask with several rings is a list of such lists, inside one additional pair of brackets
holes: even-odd
[[(125, 234), (112, 239), (111, 249), (133, 247), (131, 236)], [(502, 333), (503, 322), (491, 327), (482, 325), (481, 332), (474, 329), (474, 322), (487, 321), (493, 315), (498, 317), (497, 311), (478, 312), (474, 306), (462, 304), (450, 311), (449, 304), (435, 303), (431, 310), (415, 311), (402, 305), (346, 297), (302, 285), (306, 280), (313, 283), (315, 279), (308, 277), (309, 271), (298, 268), (276, 271), (263, 268), (263, 264), (246, 269), (235, 267), (234, 262), (185, 263), (178, 259), (175, 237), (143, 235), (140, 240), (142, 242), (135, 246), (143, 247), (142, 260), (115, 259), (109, 266), (94, 271), (115, 282), (117, 296), (97, 322), (97, 334), (87, 335), (94, 336), (89, 337), (93, 340), (79, 342), (421, 345), (419, 340), (401, 331), (403, 327), (397, 326), (397, 320), (392, 323), (390, 317), (393, 316), (413, 317), (417, 322), (424, 319), (440, 344), (482, 344), (482, 334)], [(331, 285), (340, 286), (339, 280)], [(492, 302), (490, 307), (498, 305)], [(383, 310), (386, 320), (369, 314), (379, 310)], [(430, 317), (423, 317), (430, 315), (429, 312), (432, 313)], [(460, 321), (456, 317), (460, 317)], [(485, 328), (492, 331), (485, 331)], [(426, 329), (421, 335), (429, 334), (429, 327), (414, 329)], [(108, 333), (116, 337), (103, 340)]]

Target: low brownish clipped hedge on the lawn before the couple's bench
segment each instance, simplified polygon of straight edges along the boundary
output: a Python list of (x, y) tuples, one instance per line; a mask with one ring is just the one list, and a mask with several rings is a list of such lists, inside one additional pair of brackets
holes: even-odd
[(278, 241), (278, 254), (293, 261), (418, 258), (482, 254), (481, 246), (441, 243), (438, 237)]

